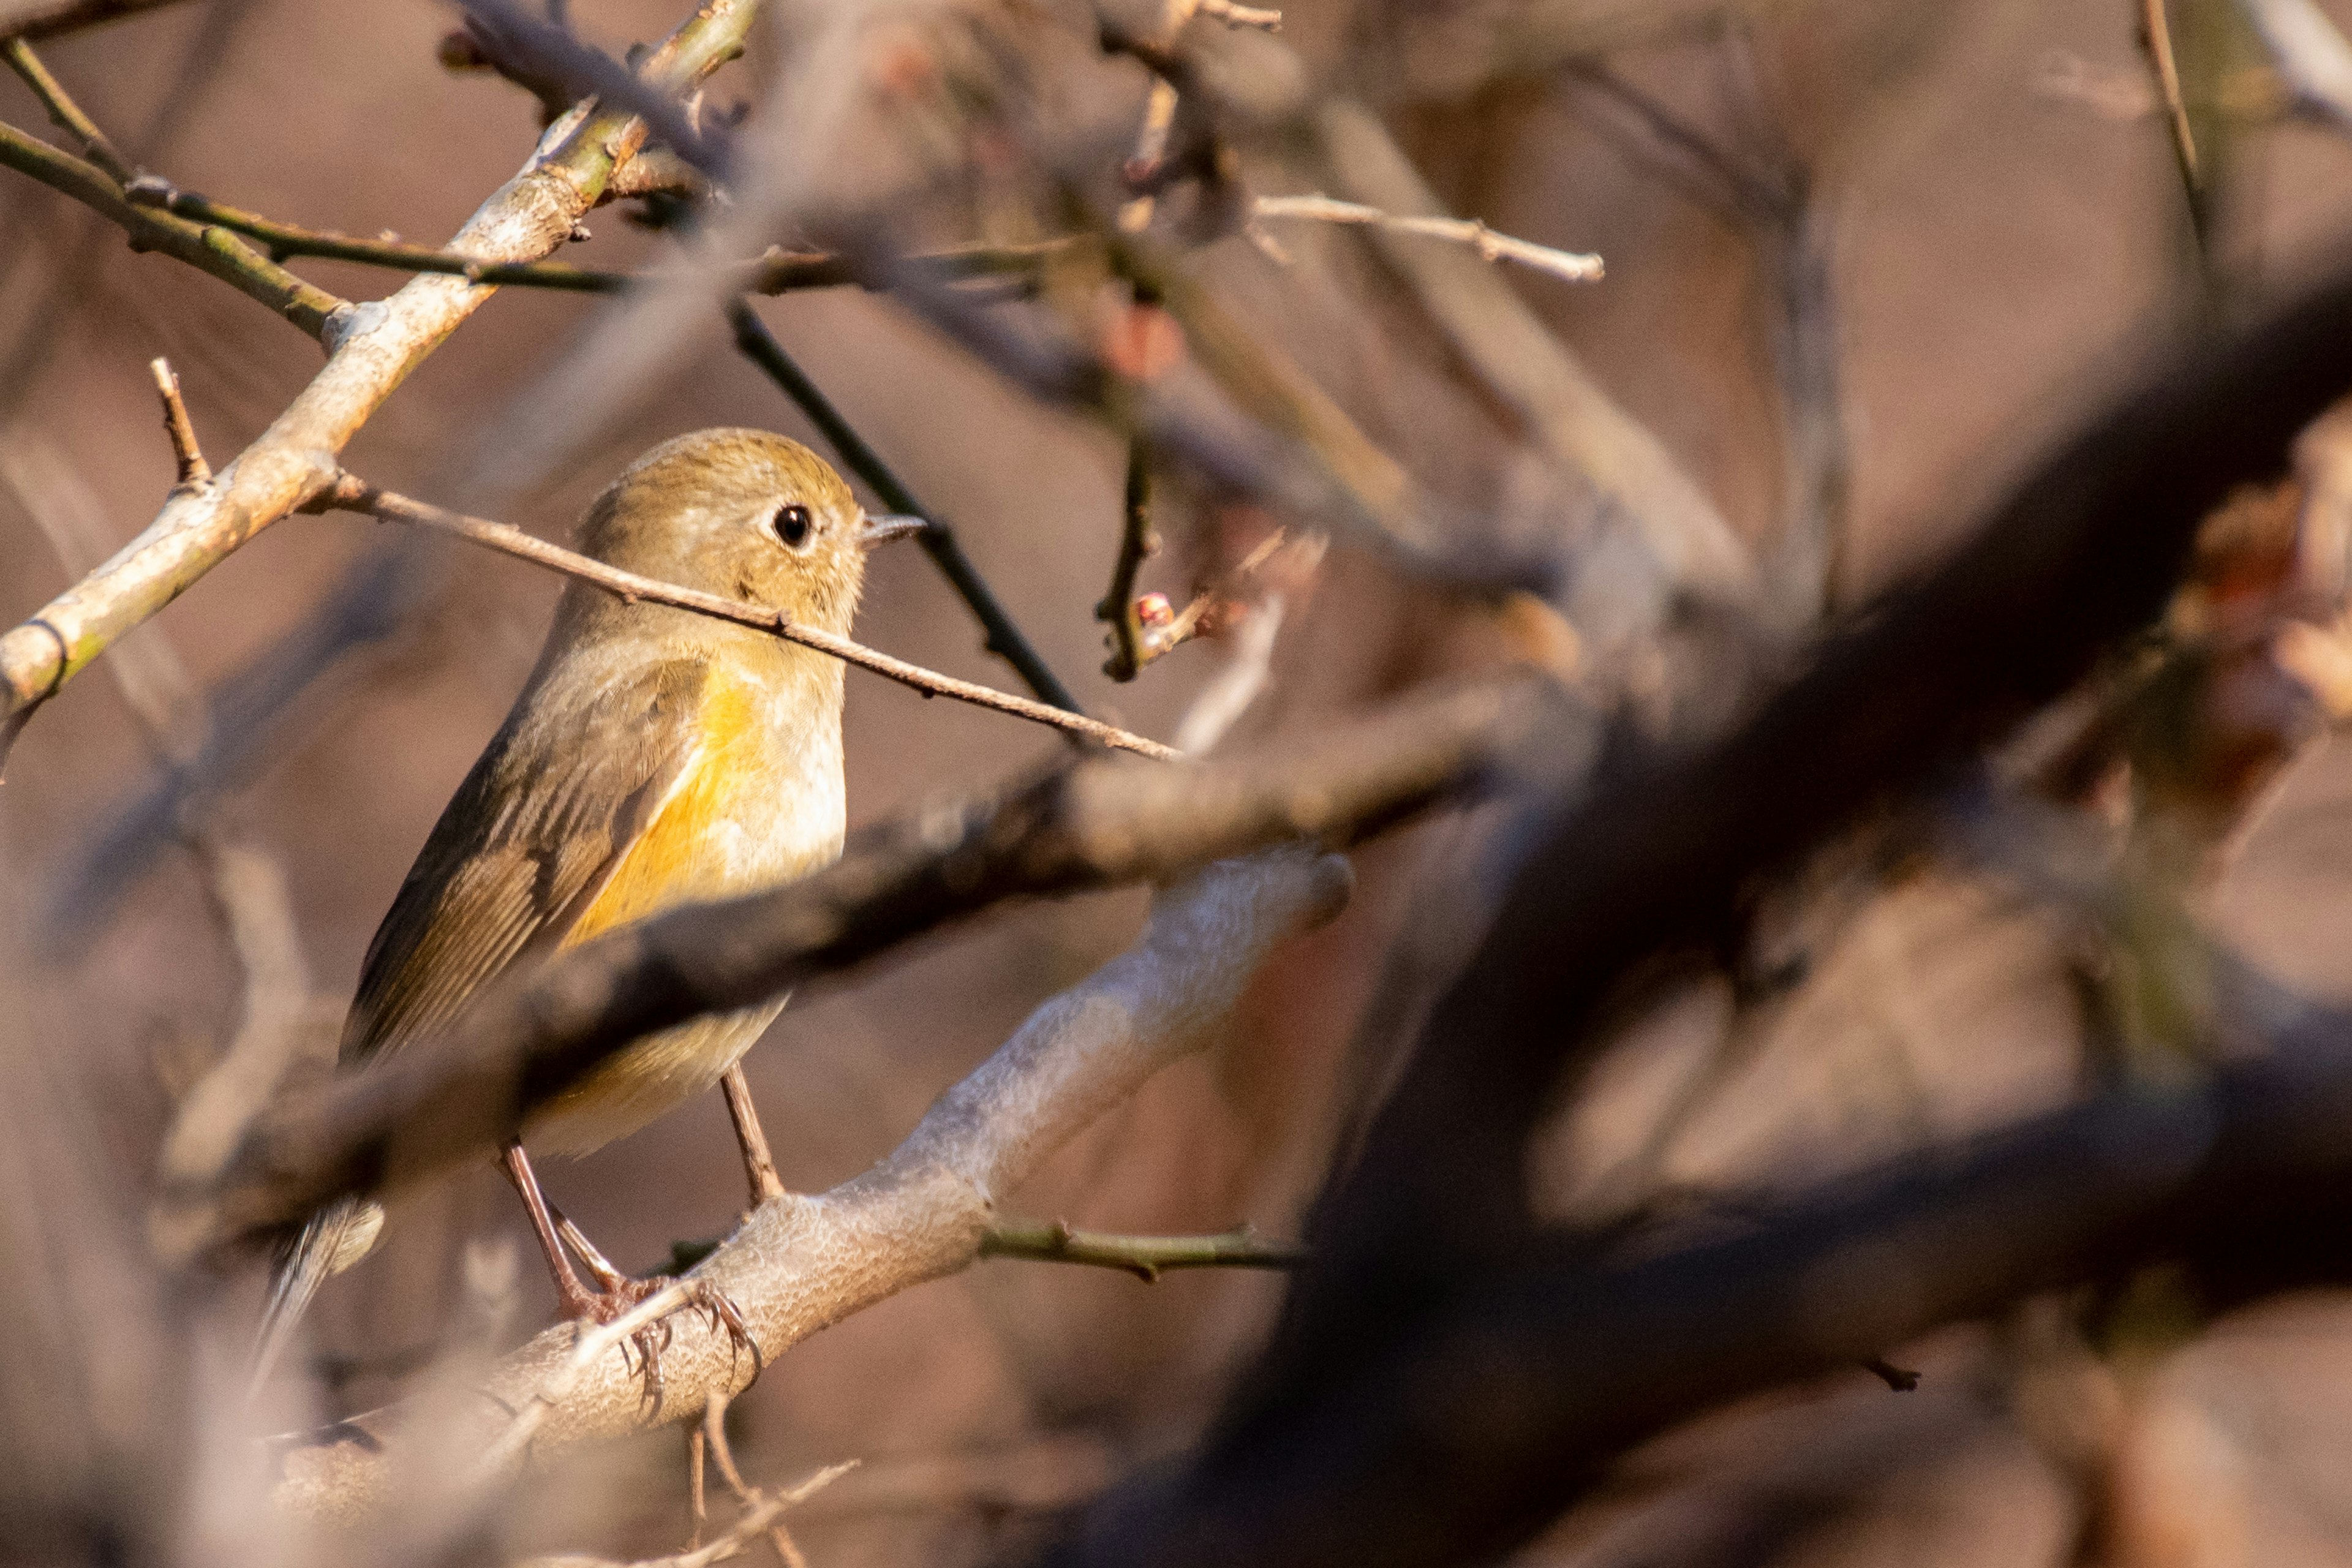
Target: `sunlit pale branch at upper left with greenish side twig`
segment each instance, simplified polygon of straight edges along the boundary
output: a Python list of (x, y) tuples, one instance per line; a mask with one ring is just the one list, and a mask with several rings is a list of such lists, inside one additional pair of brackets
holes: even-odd
[[(710, 0), (644, 63), (644, 80), (673, 92), (715, 71), (741, 47), (753, 0)], [(619, 110), (579, 113), (541, 139), (532, 162), (501, 186), (459, 230), (454, 249), (482, 261), (532, 261), (572, 237), (595, 205), (616, 162), (642, 146), (644, 122)], [(282, 268), (254, 256), (245, 240), (132, 207), (99, 169), (0, 127), (0, 162), (21, 167), (106, 212), (158, 244), (256, 292), (252, 277), (282, 292)], [(221, 256), (242, 259), (235, 266)], [(228, 270), (223, 270), (228, 266)], [(301, 299), (332, 296), (299, 284)], [(327, 367), (294, 397), (261, 437), (219, 480), (174, 494), (155, 522), (115, 559), (0, 635), (0, 736), (14, 733), (33, 708), (103, 654), (247, 538), (278, 522), (334, 482), (334, 456), (367, 423), (393, 388), (430, 355), (482, 301), (487, 284), (459, 277), (414, 277), (386, 301), (334, 315), (318, 313), (329, 348)], [(332, 301), (339, 306), (341, 301)], [(292, 310), (292, 306), (289, 306)]]

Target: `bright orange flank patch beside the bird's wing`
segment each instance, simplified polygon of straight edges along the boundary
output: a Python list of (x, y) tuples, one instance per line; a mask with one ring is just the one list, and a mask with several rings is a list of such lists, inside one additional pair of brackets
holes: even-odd
[(731, 816), (729, 806), (741, 790), (764, 783), (760, 710), (743, 684), (713, 670), (699, 717), (701, 729), (684, 771), (654, 806), (654, 820), (621, 853), (604, 891), (564, 933), (564, 947), (680, 903), (739, 891), (724, 856), (713, 853), (710, 830)]

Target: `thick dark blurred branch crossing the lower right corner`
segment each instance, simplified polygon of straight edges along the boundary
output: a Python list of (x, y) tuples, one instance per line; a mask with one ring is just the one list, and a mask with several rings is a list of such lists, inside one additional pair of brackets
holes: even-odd
[(1599, 1267), (1536, 1239), (1279, 1446), (1122, 1488), (1049, 1561), (1486, 1561), (1677, 1420), (2044, 1291), (2152, 1262), (2213, 1307), (2352, 1279), (2352, 1018), (2274, 1046), (1743, 1208), (1731, 1239)]

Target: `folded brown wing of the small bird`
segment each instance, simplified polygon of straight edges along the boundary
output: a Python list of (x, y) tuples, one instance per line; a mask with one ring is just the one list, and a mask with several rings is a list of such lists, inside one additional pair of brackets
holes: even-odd
[(593, 689), (579, 719), (517, 705), (367, 947), (346, 1063), (445, 1027), (527, 950), (562, 943), (694, 773), (708, 686), (703, 661), (677, 658)]

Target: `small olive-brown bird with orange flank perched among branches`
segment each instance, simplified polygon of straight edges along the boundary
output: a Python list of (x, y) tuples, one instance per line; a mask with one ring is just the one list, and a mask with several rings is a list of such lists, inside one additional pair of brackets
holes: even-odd
[[(595, 498), (581, 548), (663, 583), (847, 635), (866, 550), (920, 531), (868, 517), (833, 468), (764, 430), (654, 447)], [(522, 696), (442, 809), (376, 929), (343, 1025), (355, 1067), (447, 1027), (515, 964), (673, 905), (804, 877), (842, 853), (842, 663), (746, 625), (621, 602), (574, 581)], [(753, 1204), (783, 1192), (739, 1058), (771, 1001), (649, 1034), (539, 1107), (546, 1152), (586, 1154), (724, 1081)], [(522, 1143), (501, 1154), (567, 1316), (609, 1321), (652, 1286), (548, 1206)], [(259, 1387), (318, 1286), (374, 1246), (383, 1211), (329, 1204), (285, 1248), (254, 1352)], [(564, 1255), (595, 1276), (581, 1284)], [(706, 1305), (741, 1335), (734, 1309)], [(659, 1389), (652, 1340), (647, 1382)]]

